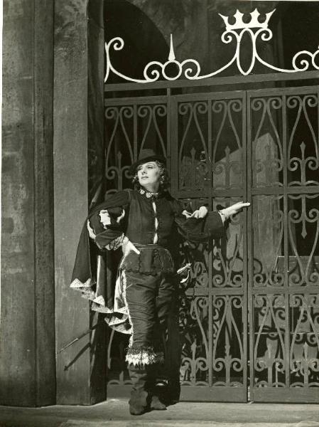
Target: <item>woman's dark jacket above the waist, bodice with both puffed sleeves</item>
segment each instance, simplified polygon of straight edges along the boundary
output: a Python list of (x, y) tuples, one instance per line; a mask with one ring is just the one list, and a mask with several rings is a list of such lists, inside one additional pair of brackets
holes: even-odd
[[(177, 226), (183, 238), (200, 242), (211, 237), (221, 237), (225, 230), (217, 212), (209, 212), (205, 218), (188, 218), (185, 209), (168, 192), (157, 197), (147, 197), (147, 192), (119, 191), (104, 204), (94, 209), (90, 215), (90, 224), (95, 231), (95, 241), (100, 248), (105, 248), (114, 238), (122, 233), (132, 243), (147, 245), (153, 243), (154, 234), (158, 235), (158, 245), (169, 248), (173, 226)], [(153, 202), (156, 211), (153, 209)], [(110, 223), (105, 226), (99, 212), (107, 209)], [(124, 212), (123, 212), (124, 209)], [(124, 214), (124, 217), (119, 218)], [(155, 219), (158, 220), (157, 230)]]

